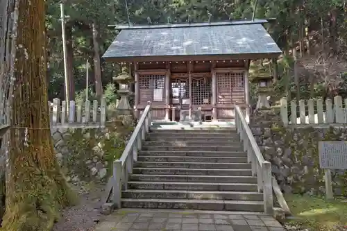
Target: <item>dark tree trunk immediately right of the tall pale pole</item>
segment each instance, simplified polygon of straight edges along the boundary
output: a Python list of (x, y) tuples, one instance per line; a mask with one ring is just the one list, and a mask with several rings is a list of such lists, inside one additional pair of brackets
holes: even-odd
[(75, 81), (74, 81), (74, 47), (72, 46), (72, 28), (67, 24), (66, 28), (67, 41), (67, 79), (69, 81), (69, 100), (75, 100)]

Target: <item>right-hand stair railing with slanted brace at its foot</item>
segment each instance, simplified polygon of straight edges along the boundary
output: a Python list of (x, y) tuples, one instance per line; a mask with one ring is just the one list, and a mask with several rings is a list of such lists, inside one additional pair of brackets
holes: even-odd
[(289, 207), (285, 198), (280, 191), (280, 187), (273, 178), (271, 173), (271, 163), (264, 160), (260, 148), (253, 137), (251, 128), (244, 117), (242, 109), (235, 105), (235, 126), (237, 133), (244, 144), (244, 151), (247, 152), (247, 160), (252, 165), (252, 175), (257, 176), (257, 188), (264, 195), (264, 212), (266, 214), (273, 213), (273, 193), (275, 194), (278, 203), (286, 214), (290, 214)]

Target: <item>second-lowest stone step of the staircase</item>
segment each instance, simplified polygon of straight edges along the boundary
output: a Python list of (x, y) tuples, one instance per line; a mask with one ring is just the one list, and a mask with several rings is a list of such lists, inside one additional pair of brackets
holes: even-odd
[(187, 190), (141, 190), (122, 191), (123, 198), (168, 198), (198, 200), (263, 200), (256, 191), (187, 191)]

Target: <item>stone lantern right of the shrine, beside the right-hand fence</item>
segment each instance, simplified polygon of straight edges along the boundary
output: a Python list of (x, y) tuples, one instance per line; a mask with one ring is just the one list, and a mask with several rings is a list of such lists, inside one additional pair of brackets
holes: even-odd
[(257, 83), (258, 101), (255, 110), (269, 110), (268, 96), (273, 92), (272, 76), (270, 74), (257, 74), (253, 77), (253, 83)]

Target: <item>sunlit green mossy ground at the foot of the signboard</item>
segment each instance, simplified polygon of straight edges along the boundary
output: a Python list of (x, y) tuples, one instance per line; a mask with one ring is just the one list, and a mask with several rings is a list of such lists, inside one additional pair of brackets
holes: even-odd
[(325, 200), (314, 196), (286, 195), (291, 212), (296, 217), (289, 221), (309, 230), (332, 231), (347, 225), (347, 201), (341, 198)]

